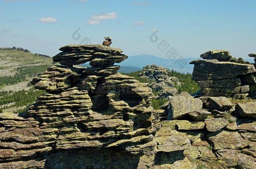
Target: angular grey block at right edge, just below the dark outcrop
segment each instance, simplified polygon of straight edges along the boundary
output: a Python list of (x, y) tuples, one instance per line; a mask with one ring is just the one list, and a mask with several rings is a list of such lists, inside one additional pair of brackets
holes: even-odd
[(235, 110), (240, 116), (256, 118), (256, 102), (237, 103)]

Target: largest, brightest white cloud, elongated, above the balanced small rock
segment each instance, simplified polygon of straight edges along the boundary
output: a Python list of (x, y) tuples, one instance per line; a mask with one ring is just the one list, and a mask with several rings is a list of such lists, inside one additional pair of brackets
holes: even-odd
[(99, 25), (101, 20), (110, 20), (110, 19), (116, 19), (117, 13), (103, 13), (99, 15), (92, 15), (91, 18), (88, 20), (88, 25)]

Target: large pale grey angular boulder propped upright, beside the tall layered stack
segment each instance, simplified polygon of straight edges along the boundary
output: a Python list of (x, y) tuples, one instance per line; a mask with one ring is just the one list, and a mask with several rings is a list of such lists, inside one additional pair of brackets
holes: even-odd
[(202, 108), (202, 104), (199, 98), (193, 98), (187, 92), (182, 92), (179, 96), (170, 99), (168, 120), (180, 119), (188, 113), (198, 111)]

